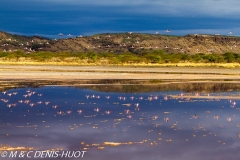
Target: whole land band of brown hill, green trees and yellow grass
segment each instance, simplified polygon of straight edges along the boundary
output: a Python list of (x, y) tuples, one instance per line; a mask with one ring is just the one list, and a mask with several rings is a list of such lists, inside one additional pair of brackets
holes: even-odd
[(216, 35), (120, 33), (50, 40), (0, 32), (0, 64), (234, 68), (240, 66), (239, 42)]

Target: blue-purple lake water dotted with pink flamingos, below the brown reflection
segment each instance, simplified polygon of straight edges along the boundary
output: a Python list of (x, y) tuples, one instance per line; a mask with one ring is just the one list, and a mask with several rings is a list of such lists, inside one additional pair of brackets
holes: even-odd
[(0, 93), (0, 148), (87, 150), (84, 159), (237, 159), (239, 94), (10, 89)]

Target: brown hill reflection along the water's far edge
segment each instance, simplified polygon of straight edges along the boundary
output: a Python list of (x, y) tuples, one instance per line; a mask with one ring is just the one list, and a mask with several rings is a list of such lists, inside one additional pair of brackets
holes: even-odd
[(101, 92), (158, 92), (176, 91), (185, 92), (219, 92), (240, 90), (240, 83), (192, 83), (192, 82), (163, 82), (143, 80), (82, 80), (82, 81), (20, 81), (1, 82), (0, 90), (5, 91), (16, 88), (38, 88), (45, 85), (64, 85), (76, 88), (91, 89)]

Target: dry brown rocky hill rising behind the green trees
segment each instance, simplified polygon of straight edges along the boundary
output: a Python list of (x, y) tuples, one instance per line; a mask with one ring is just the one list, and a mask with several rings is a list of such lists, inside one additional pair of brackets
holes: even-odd
[(166, 53), (240, 53), (240, 37), (221, 35), (169, 36), (159, 34), (117, 33), (67, 39), (26, 37), (0, 32), (0, 51), (21, 50), (51, 52), (132, 52), (141, 54), (149, 50)]

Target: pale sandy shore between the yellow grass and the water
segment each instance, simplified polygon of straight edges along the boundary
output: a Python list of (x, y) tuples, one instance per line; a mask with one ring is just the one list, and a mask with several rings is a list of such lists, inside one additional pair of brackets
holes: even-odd
[(239, 69), (180, 67), (16, 66), (0, 65), (0, 80), (234, 80)]

